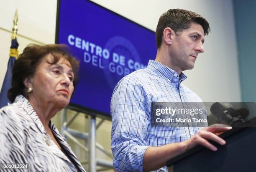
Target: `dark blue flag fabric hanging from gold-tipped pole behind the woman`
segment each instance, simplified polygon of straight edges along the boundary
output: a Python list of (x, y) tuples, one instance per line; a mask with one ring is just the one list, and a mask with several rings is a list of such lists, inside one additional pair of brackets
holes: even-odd
[[(15, 39), (12, 40), (12, 45), (10, 48), (18, 49), (18, 46), (19, 46), (19, 44), (18, 44), (17, 38), (15, 37)], [(3, 85), (2, 85), (2, 89), (1, 89), (1, 93), (0, 93), (0, 108), (2, 108), (3, 106), (7, 106), (7, 104), (10, 103), (10, 100), (7, 97), (7, 92), (11, 86), (12, 68), (13, 68), (13, 64), (16, 60), (16, 58), (11, 56), (11, 54), (12, 53), (10, 53), (7, 71), (5, 73), (5, 79), (3, 81)]]

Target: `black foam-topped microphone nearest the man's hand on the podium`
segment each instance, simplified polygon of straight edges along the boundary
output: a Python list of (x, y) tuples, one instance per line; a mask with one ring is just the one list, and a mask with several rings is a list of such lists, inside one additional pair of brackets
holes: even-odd
[(233, 108), (225, 108), (222, 104), (216, 102), (212, 104), (210, 111), (214, 114), (220, 121), (225, 121), (230, 126), (239, 126), (245, 122), (243, 117), (238, 114)]

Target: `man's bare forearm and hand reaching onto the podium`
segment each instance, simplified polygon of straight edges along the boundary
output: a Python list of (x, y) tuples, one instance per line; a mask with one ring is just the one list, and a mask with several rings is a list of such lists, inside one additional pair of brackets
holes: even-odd
[(161, 147), (148, 147), (143, 157), (143, 170), (152, 171), (164, 167), (166, 161), (183, 154), (198, 144), (216, 151), (217, 148), (207, 140), (213, 140), (223, 145), (225, 140), (218, 137), (218, 135), (230, 129), (232, 128), (228, 125), (213, 124), (207, 128), (202, 128), (197, 134), (184, 142), (166, 144)]

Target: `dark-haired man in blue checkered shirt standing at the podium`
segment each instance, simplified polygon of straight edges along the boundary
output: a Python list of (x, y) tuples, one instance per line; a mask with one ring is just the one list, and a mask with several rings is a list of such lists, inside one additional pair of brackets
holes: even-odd
[[(194, 68), (204, 52), (204, 36), (210, 32), (205, 18), (187, 10), (171, 9), (161, 15), (156, 28), (157, 54), (145, 69), (122, 78), (111, 99), (111, 148), (113, 165), (122, 171), (167, 172), (166, 162), (201, 144), (217, 148), (207, 140), (224, 145), (218, 137), (230, 127), (156, 127), (151, 125), (152, 102), (202, 102), (182, 84), (182, 71)], [(207, 114), (205, 114), (206, 118)]]

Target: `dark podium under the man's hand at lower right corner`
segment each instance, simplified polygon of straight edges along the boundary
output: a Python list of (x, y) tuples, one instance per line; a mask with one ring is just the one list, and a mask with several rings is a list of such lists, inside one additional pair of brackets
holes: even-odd
[(211, 142), (217, 151), (197, 146), (169, 160), (167, 167), (173, 172), (256, 172), (256, 118), (220, 137), (224, 146)]

